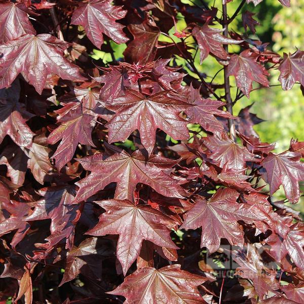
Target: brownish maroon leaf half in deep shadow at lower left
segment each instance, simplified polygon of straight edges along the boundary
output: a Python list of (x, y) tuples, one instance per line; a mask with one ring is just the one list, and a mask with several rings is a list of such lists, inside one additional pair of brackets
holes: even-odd
[(59, 284), (73, 280), (80, 273), (89, 277), (101, 277), (102, 260), (113, 256), (113, 248), (108, 240), (89, 238), (67, 252), (65, 271)]

